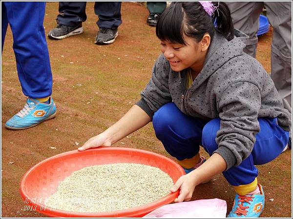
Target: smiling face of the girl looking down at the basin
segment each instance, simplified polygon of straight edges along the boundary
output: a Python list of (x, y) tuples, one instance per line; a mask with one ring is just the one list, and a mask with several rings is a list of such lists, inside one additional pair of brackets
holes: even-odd
[[(207, 51), (206, 44), (202, 41), (196, 42), (191, 37), (185, 37), (187, 45), (171, 43), (170, 41), (161, 41), (161, 51), (170, 63), (173, 71), (179, 72), (187, 68), (194, 71), (201, 71)], [(204, 45), (204, 46), (203, 46)]]

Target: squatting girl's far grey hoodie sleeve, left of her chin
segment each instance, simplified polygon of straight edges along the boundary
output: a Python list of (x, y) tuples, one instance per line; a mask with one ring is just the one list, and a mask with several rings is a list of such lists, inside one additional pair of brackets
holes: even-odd
[(141, 92), (141, 99), (136, 103), (150, 118), (161, 106), (172, 101), (168, 85), (169, 72), (169, 63), (161, 54), (153, 66), (151, 79)]

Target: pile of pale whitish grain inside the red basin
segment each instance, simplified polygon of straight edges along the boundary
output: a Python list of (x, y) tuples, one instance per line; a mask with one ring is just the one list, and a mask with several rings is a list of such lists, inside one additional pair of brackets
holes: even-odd
[(82, 168), (64, 179), (45, 202), (75, 212), (115, 211), (166, 196), (173, 186), (161, 169), (144, 164), (105, 164)]

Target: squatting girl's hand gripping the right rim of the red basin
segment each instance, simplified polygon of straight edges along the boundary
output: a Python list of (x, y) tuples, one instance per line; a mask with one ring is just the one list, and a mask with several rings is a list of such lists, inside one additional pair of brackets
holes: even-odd
[(189, 201), (196, 185), (198, 185), (198, 183), (196, 183), (194, 178), (189, 173), (181, 176), (175, 185), (170, 189), (171, 192), (176, 192), (180, 189), (180, 194), (174, 202)]

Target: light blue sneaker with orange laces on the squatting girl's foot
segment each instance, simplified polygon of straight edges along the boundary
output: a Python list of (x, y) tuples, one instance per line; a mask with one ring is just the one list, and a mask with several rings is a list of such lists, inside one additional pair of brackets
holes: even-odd
[[(227, 218), (258, 218), (265, 207), (265, 193), (257, 184), (260, 194), (240, 196), (236, 194), (233, 208)], [(240, 202), (240, 203), (239, 203)]]

